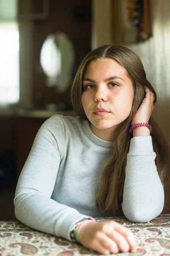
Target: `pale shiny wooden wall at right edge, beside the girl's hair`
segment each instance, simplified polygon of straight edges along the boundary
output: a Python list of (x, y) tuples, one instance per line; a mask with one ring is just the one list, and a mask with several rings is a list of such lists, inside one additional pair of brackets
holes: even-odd
[[(147, 78), (158, 99), (153, 117), (170, 147), (170, 0), (151, 0), (153, 36), (140, 44), (130, 45), (144, 64)], [(170, 172), (170, 170), (169, 170)], [(170, 184), (165, 185), (163, 213), (170, 213)]]

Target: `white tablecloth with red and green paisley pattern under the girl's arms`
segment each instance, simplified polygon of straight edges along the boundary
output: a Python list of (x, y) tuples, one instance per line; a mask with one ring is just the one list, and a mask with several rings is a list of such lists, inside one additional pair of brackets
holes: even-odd
[[(97, 221), (117, 221), (136, 236), (136, 253), (119, 256), (170, 256), (170, 214), (159, 215), (146, 223), (134, 223), (124, 217), (96, 218)], [(65, 239), (38, 232), (19, 221), (0, 221), (0, 256), (77, 256), (100, 255)]]

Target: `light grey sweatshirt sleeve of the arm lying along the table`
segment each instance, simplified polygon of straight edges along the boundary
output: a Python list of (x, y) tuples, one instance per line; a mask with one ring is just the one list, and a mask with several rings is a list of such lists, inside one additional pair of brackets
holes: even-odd
[(71, 227), (90, 217), (51, 199), (64, 146), (62, 119), (51, 117), (34, 140), (17, 183), (14, 205), (16, 218), (27, 226), (71, 240)]

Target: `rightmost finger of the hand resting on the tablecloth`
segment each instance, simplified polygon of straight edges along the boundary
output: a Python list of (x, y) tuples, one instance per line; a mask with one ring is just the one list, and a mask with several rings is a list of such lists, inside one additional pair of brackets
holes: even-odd
[[(128, 230), (127, 227), (124, 227), (118, 223), (115, 223), (114, 230), (125, 238), (131, 251), (136, 251), (136, 239), (131, 230)], [(121, 240), (121, 244), (122, 243), (124, 243), (124, 240)], [(127, 247), (127, 244), (124, 243), (123, 246)]]

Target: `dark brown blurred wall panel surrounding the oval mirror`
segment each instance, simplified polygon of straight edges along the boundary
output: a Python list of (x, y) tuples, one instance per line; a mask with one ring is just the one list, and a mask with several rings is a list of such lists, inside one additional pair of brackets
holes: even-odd
[(33, 102), (36, 108), (43, 108), (49, 103), (64, 103), (70, 108), (69, 89), (59, 94), (45, 85), (45, 76), (40, 68), (40, 50), (49, 34), (64, 32), (74, 44), (76, 66), (91, 50), (91, 0), (49, 0), (49, 3), (49, 17), (35, 20), (33, 24)]

